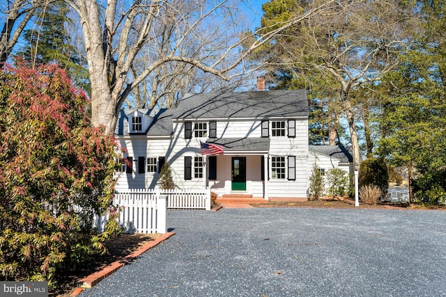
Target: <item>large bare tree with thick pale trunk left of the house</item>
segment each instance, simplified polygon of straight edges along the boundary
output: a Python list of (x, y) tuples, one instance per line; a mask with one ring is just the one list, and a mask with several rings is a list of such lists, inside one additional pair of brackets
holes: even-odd
[[(133, 77), (134, 61), (147, 45), (156, 44), (155, 40), (162, 37), (158, 31), (162, 16), (183, 14), (178, 9), (178, 3), (137, 0), (131, 6), (125, 7), (125, 4), (118, 0), (107, 0), (105, 6), (95, 0), (66, 0), (66, 2), (76, 10), (82, 25), (84, 49), (91, 80), (92, 122), (96, 126), (105, 125), (107, 131), (114, 130), (118, 111), (128, 95), (159, 67), (167, 63), (183, 63), (202, 72), (229, 80), (240, 75), (240, 73), (233, 73), (233, 70), (244, 61), (247, 55), (270, 40), (273, 35), (329, 6), (339, 5), (339, 1), (323, 1), (320, 6), (315, 6), (289, 19), (286, 23), (279, 24), (277, 29), (262, 35), (261, 38), (252, 39), (249, 47), (243, 51), (240, 51), (240, 45), (243, 42), (246, 44), (251, 36), (244, 35), (238, 40), (233, 40), (231, 38), (234, 37), (234, 32), (227, 32), (226, 35), (215, 36), (222, 40), (230, 37), (224, 47), (217, 49), (205, 47), (206, 51), (200, 49), (199, 56), (190, 56), (179, 51), (179, 45), (190, 42), (193, 36), (197, 37), (195, 42), (201, 42), (200, 34), (196, 31), (201, 22), (207, 19), (206, 22), (213, 24), (213, 26), (208, 26), (209, 30), (213, 30), (218, 29), (218, 24), (224, 17), (233, 17), (234, 22), (236, 19), (229, 0), (179, 1), (178, 3), (195, 6), (196, 9), (190, 12), (193, 11), (194, 15), (198, 16), (197, 19), (190, 22), (185, 15), (183, 18), (180, 17), (179, 19), (183, 19), (183, 22), (174, 24), (183, 26), (180, 30), (183, 35), (176, 36), (177, 43), (166, 47), (163, 55), (157, 56), (151, 63), (146, 64), (144, 70), (134, 72), (136, 76)], [(123, 9), (123, 11), (118, 9)], [(220, 31), (220, 33), (224, 32)]]

